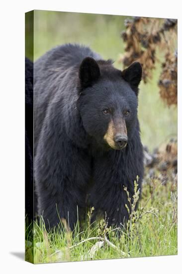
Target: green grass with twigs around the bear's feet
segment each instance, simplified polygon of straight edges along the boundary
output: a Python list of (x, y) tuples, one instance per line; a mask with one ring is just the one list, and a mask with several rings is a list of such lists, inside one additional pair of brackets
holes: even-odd
[[(137, 195), (135, 196), (137, 200)], [(128, 227), (118, 237), (118, 229), (107, 228), (103, 219), (90, 225), (91, 212), (80, 229), (74, 233), (52, 231), (46, 233), (33, 224), (26, 227), (26, 260), (37, 263), (87, 261), (161, 255), (177, 255), (177, 185), (174, 180), (166, 185), (160, 179), (146, 179), (139, 209), (131, 216)], [(91, 254), (98, 239), (106, 235), (111, 247), (104, 246)], [(86, 240), (86, 242), (83, 242)], [(76, 245), (74, 247), (74, 245)], [(123, 254), (123, 252), (125, 254)]]

